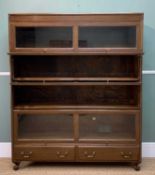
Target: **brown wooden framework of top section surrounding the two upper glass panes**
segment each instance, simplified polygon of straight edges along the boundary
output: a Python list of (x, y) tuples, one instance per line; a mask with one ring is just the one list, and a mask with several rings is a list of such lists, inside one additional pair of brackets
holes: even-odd
[[(34, 52), (34, 53), (136, 53), (142, 52), (142, 32), (143, 14), (105, 14), (105, 15), (10, 15), (10, 51), (11, 52)], [(17, 48), (15, 42), (15, 28), (25, 27), (52, 27), (52, 26), (72, 26), (73, 28), (73, 48)], [(77, 48), (79, 26), (135, 26), (137, 45), (134, 48)]]

